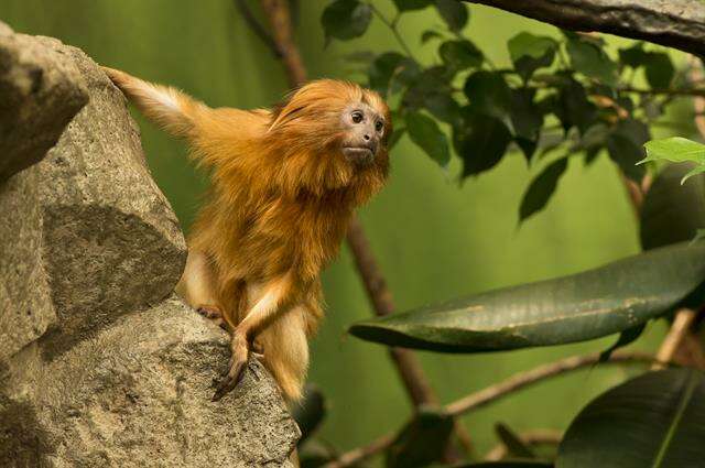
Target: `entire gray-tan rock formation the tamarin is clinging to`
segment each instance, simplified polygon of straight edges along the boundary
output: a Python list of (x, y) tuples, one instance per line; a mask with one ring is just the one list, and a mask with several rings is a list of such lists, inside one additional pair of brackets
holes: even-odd
[(0, 162), (0, 467), (291, 467), (299, 429), (259, 362), (210, 402), (227, 337), (172, 296), (185, 242), (122, 94), (77, 48), (0, 23), (0, 124), (14, 112), (18, 135), (58, 105), (14, 98), (8, 43), (56, 58), (89, 101), (53, 148), (0, 127), (0, 159), (44, 156)]

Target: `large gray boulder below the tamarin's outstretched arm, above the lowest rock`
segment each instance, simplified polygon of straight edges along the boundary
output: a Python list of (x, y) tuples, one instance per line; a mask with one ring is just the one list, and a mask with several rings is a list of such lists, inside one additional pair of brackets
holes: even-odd
[(53, 359), (159, 303), (186, 255), (122, 94), (75, 47), (50, 37), (13, 43), (61, 57), (59, 69), (73, 69), (90, 100), (44, 160), (0, 191), (0, 208), (15, 214), (0, 219), (0, 361), (39, 336)]

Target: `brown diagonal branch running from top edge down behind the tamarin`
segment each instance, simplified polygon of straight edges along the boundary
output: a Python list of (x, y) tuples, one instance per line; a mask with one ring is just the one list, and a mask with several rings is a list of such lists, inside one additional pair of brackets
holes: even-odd
[[(271, 36), (268, 35), (268, 37), (271, 37), (273, 46), (270, 45), (270, 47), (273, 47), (273, 52), (280, 56), (286, 69), (289, 84), (292, 87), (302, 85), (306, 80), (306, 68), (293, 39), (289, 3), (286, 0), (260, 0), (260, 4), (271, 26)], [(265, 43), (270, 44), (269, 41)], [(362, 226), (357, 218), (352, 218), (350, 222), (347, 240), (375, 313), (391, 314), (394, 309), (391, 293), (387, 289)], [(414, 407), (421, 404), (437, 404), (438, 399), (416, 357), (411, 351), (400, 348), (390, 348), (389, 353)], [(457, 423), (456, 435), (464, 448), (469, 451), (471, 449), (469, 435), (465, 427)]]

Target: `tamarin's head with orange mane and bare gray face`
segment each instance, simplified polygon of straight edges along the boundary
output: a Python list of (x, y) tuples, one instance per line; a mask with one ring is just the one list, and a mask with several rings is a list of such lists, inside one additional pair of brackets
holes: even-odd
[(375, 91), (321, 79), (294, 90), (271, 113), (267, 140), (282, 156), (283, 175), (310, 189), (350, 188), (362, 198), (389, 168), (391, 115)]

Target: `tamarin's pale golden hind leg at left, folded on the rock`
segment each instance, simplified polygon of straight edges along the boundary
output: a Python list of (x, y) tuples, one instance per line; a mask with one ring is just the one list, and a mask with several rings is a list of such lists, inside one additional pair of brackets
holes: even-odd
[(215, 292), (215, 273), (208, 257), (203, 252), (189, 251), (184, 274), (176, 285), (176, 293), (198, 314), (212, 319), (220, 328), (231, 331), (232, 326), (227, 323)]

